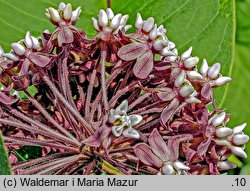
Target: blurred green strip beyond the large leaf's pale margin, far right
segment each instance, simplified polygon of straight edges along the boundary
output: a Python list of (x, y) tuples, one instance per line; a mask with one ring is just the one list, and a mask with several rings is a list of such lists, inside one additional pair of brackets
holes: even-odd
[[(230, 83), (224, 107), (232, 113), (231, 126), (247, 122), (245, 133), (250, 135), (250, 0), (237, 0), (236, 51)], [(246, 152), (250, 156), (250, 143)], [(250, 162), (250, 158), (247, 159)]]

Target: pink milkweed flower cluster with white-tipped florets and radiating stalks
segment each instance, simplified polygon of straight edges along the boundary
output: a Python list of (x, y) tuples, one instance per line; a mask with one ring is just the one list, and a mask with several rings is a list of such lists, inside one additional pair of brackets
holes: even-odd
[[(74, 26), (80, 13), (49, 7), (53, 32), (0, 47), (0, 129), (14, 174), (215, 175), (236, 168), (231, 155), (247, 157), (246, 124), (228, 127), (215, 102), (213, 89), (231, 80), (219, 63), (199, 67), (192, 47), (179, 53), (139, 13), (128, 33), (128, 15), (100, 10), (88, 39)], [(25, 145), (42, 157), (19, 161)]]

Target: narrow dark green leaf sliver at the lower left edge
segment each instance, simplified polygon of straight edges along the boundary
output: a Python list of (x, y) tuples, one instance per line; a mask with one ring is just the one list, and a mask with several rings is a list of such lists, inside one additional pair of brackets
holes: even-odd
[(10, 175), (10, 164), (8, 159), (8, 154), (5, 149), (5, 145), (2, 138), (2, 132), (0, 131), (0, 175)]

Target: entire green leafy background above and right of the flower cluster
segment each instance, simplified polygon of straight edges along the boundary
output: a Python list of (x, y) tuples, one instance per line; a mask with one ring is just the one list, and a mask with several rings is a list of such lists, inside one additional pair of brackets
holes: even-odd
[[(57, 7), (60, 0), (0, 0), (0, 44), (5, 51), (12, 42), (22, 39), (26, 31), (40, 36), (53, 30), (44, 15), (45, 8)], [(77, 27), (93, 36), (91, 17), (107, 8), (105, 0), (67, 0), (73, 8), (82, 7)], [(193, 46), (193, 55), (206, 58), (210, 65), (220, 62), (221, 72), (232, 82), (216, 90), (216, 101), (232, 114), (229, 127), (247, 122), (250, 135), (250, 0), (111, 0), (114, 12), (129, 14), (133, 24), (136, 13), (153, 16), (167, 28), (169, 39), (180, 52)], [(250, 174), (250, 143), (246, 160), (231, 158), (240, 167), (231, 174)]]

